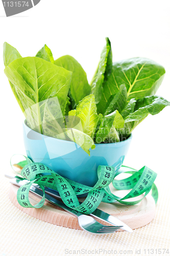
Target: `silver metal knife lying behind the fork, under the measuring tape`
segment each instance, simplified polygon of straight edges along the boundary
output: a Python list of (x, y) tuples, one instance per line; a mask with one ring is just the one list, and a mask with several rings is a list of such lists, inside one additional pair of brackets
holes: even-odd
[[(25, 179), (23, 179), (19, 176), (13, 177), (13, 176), (10, 176), (10, 175), (6, 174), (5, 177), (11, 179), (10, 183), (12, 183), (14, 185), (17, 185), (19, 187), (28, 182), (28, 180), (25, 180)], [(42, 189), (39, 187), (38, 184), (33, 184), (31, 186), (31, 189), (30, 189), (30, 191), (32, 193), (42, 197), (42, 193), (39, 193), (39, 190), (42, 191)], [(45, 193), (49, 196), (52, 196), (53, 198), (61, 200), (61, 197), (60, 197), (59, 193), (56, 190), (49, 189), (48, 187), (45, 187)], [(133, 230), (128, 225), (126, 225), (124, 222), (118, 220), (116, 217), (113, 217), (113, 216), (107, 214), (105, 211), (102, 211), (100, 209), (95, 209), (90, 215), (97, 218), (97, 219), (103, 220), (107, 223), (110, 223), (114, 226), (123, 226), (122, 229), (124, 229), (128, 232), (131, 232), (131, 233), (133, 232)]]

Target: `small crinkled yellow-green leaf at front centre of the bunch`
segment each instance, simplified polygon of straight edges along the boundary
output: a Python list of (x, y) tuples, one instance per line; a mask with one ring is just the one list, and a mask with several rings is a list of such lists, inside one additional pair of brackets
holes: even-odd
[(98, 122), (94, 95), (90, 94), (79, 102), (76, 108), (76, 116), (81, 119), (83, 132), (91, 136), (94, 126)]

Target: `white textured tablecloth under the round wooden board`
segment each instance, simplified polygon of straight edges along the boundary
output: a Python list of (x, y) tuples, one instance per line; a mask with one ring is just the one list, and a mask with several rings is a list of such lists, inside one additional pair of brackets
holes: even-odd
[(135, 229), (133, 233), (123, 231), (97, 236), (40, 221), (16, 208), (9, 199), (10, 183), (4, 177), (4, 173), (0, 175), (0, 256), (111, 255), (113, 252), (114, 255), (158, 254), (158, 251), (151, 253), (152, 251), (149, 252), (148, 249), (161, 249), (161, 254), (158, 255), (168, 255), (163, 254), (162, 250), (168, 249), (170, 245), (170, 186), (168, 180), (163, 181), (163, 178), (159, 177), (160, 179), (156, 182), (159, 200), (156, 206), (156, 216), (150, 224)]

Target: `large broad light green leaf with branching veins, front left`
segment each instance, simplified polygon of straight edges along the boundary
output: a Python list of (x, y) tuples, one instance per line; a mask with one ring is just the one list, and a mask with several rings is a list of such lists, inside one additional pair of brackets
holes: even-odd
[[(42, 58), (18, 58), (5, 68), (5, 74), (19, 92), (19, 100), (25, 109), (26, 119), (31, 129), (37, 126), (42, 133), (44, 104), (39, 103), (51, 97), (58, 97), (61, 111), (64, 114), (66, 98), (71, 81), (71, 72), (57, 67)], [(36, 131), (37, 131), (36, 129)]]

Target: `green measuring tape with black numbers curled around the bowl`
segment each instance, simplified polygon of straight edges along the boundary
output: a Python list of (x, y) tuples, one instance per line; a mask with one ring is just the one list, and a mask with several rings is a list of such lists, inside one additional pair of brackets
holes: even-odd
[[(158, 190), (154, 184), (157, 174), (147, 166), (142, 167), (138, 171), (127, 166), (122, 166), (115, 174), (114, 167), (100, 165), (98, 167), (99, 180), (93, 187), (89, 187), (67, 178), (63, 178), (44, 164), (32, 162), (32, 160), (28, 157), (25, 158), (26, 161), (18, 163), (19, 166), (23, 167), (19, 174), (24, 179), (28, 180), (28, 182), (19, 187), (17, 191), (18, 203), (23, 207), (42, 207), (45, 201), (44, 186), (57, 190), (65, 205), (87, 215), (93, 212), (101, 202), (119, 202), (125, 205), (137, 204), (148, 195), (151, 189), (155, 203), (158, 200)], [(114, 179), (116, 176), (122, 173), (131, 174), (131, 176), (123, 180)], [(111, 182), (118, 190), (132, 190), (125, 197), (119, 198), (111, 193), (109, 188), (109, 184)], [(32, 205), (29, 201), (29, 190), (33, 183), (38, 184), (44, 193), (41, 201), (35, 205)], [(85, 201), (80, 204), (77, 195), (86, 193), (88, 193), (88, 195)], [(139, 200), (130, 202), (126, 201), (127, 199), (140, 196), (143, 193), (145, 193), (143, 198)]]

